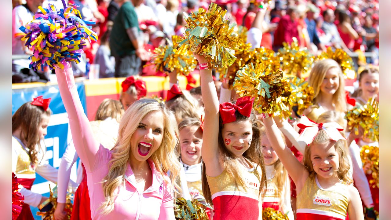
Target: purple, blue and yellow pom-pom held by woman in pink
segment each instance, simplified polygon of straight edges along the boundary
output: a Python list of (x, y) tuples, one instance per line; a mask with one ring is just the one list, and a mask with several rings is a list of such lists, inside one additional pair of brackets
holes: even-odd
[(63, 69), (70, 61), (79, 63), (79, 58), (86, 47), (86, 40), (97, 40), (97, 34), (88, 28), (95, 22), (81, 19), (80, 12), (75, 9), (76, 4), (68, 4), (62, 0), (64, 9), (57, 10), (54, 5), (46, 9), (41, 6), (34, 15), (34, 20), (20, 30), (25, 33), (22, 41), (25, 46), (33, 50), (30, 56), (30, 68), (43, 70), (44, 66), (50, 69)]

